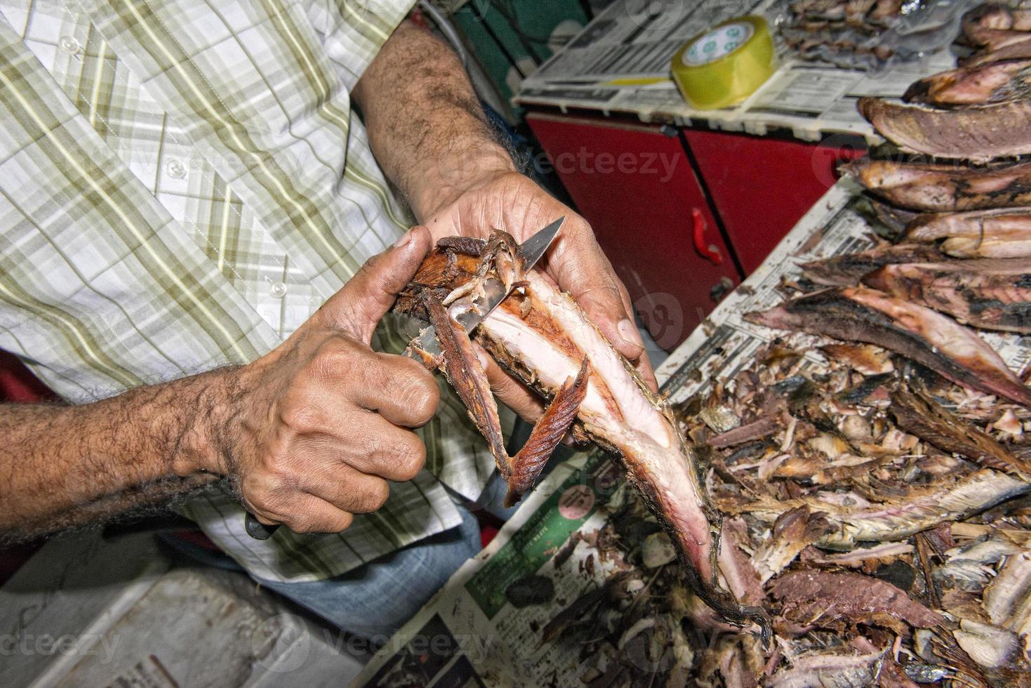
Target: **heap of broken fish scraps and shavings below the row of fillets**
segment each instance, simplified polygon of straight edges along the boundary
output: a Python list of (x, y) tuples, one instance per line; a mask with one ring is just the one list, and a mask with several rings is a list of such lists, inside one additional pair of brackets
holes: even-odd
[(543, 629), (586, 685), (1031, 685), (1031, 412), (811, 342), (774, 341), (676, 409), (724, 515), (724, 581), (772, 617), (770, 651), (699, 602), (618, 492), (578, 545), (613, 575)]

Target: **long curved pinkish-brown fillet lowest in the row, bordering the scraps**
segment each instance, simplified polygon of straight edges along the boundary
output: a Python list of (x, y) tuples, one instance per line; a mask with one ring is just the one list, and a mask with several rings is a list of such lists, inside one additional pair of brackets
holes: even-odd
[(1031, 389), (984, 339), (930, 308), (872, 289), (825, 289), (744, 318), (774, 329), (874, 343), (958, 385), (1031, 408)]

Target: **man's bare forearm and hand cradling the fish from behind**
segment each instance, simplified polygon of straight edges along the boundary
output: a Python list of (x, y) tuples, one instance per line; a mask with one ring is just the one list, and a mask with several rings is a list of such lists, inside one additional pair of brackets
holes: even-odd
[[(405, 22), (369, 65), (353, 96), (362, 108), (376, 160), (434, 239), (455, 234), (486, 237), (496, 227), (522, 241), (566, 216), (542, 263), (544, 271), (655, 388), (627, 290), (590, 225), (516, 170), (451, 48)], [(484, 358), (495, 393), (524, 418), (539, 416), (539, 400)]]

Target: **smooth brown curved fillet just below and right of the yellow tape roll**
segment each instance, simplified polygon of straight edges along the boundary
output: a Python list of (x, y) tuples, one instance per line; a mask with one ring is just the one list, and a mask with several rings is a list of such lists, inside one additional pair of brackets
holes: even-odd
[(987, 162), (1031, 153), (1031, 101), (945, 110), (864, 97), (860, 113), (906, 153)]

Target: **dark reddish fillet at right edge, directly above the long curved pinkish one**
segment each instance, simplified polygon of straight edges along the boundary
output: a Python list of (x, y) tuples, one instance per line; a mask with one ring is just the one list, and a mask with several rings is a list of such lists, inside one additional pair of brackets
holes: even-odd
[(975, 327), (1031, 334), (1031, 260), (886, 265), (863, 284)]

